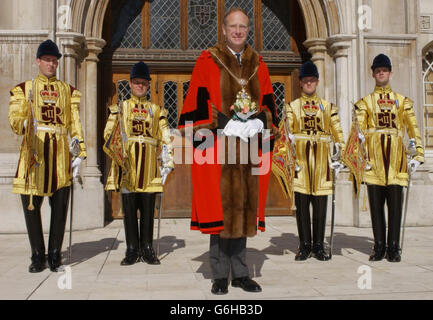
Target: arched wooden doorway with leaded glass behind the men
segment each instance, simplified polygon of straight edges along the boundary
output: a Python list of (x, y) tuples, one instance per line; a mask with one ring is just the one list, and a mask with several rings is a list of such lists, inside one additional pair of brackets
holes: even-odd
[[(222, 17), (232, 6), (245, 8), (250, 16), (248, 43), (268, 64), (281, 116), (283, 101), (299, 93), (296, 68), (305, 53), (305, 26), (297, 1), (121, 0), (110, 1), (104, 20), (107, 45), (100, 55), (99, 122), (105, 123), (107, 105), (117, 103), (122, 95), (128, 97), (129, 70), (142, 60), (151, 69), (149, 99), (169, 111), (170, 125), (175, 127), (195, 60), (201, 50), (223, 41)], [(109, 162), (102, 153), (99, 159), (105, 178)], [(279, 188), (271, 178), (267, 215), (290, 213)], [(119, 195), (108, 198), (109, 215), (120, 217)], [(191, 198), (189, 165), (176, 165), (166, 183), (164, 216), (189, 217)]]

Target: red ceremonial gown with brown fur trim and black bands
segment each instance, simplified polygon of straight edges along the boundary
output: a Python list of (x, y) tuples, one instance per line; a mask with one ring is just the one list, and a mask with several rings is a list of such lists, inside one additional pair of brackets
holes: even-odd
[[(257, 52), (247, 45), (240, 65), (225, 45), (203, 51), (196, 61), (179, 119), (179, 128), (185, 128), (188, 122), (192, 122), (194, 130), (213, 130), (215, 138), (214, 144), (203, 151), (213, 153), (214, 163), (199, 164), (194, 159), (191, 166), (191, 229), (220, 234), (223, 238), (251, 237), (257, 233), (257, 220), (258, 229), (265, 230), (264, 209), (273, 146), (270, 143), (269, 157), (262, 157), (261, 168), (267, 170), (264, 172), (263, 169), (259, 176), (245, 177), (246, 171), (242, 171), (242, 165), (239, 164), (217, 163), (216, 151), (220, 141), (216, 139), (215, 129), (223, 129), (232, 117), (230, 106), (242, 89), (227, 69), (238, 78), (248, 80), (252, 76), (245, 90), (260, 107), (257, 117), (267, 129), (275, 129), (277, 126), (268, 68)], [(237, 145), (239, 147), (239, 141)], [(267, 164), (263, 163), (265, 159)], [(226, 170), (229, 166), (237, 167)]]

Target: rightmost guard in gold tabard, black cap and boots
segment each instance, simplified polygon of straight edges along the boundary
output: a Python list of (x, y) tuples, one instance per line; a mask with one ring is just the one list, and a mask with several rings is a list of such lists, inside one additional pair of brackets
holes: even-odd
[[(370, 261), (382, 260), (386, 255), (388, 261), (399, 262), (403, 187), (408, 185), (408, 171), (413, 174), (424, 162), (424, 148), (412, 100), (392, 91), (389, 86), (392, 74), (389, 57), (384, 54), (376, 56), (371, 70), (376, 81), (374, 92), (355, 104), (367, 162), (371, 166), (364, 174), (374, 235)], [(405, 130), (415, 142), (416, 152), (409, 163), (403, 144)], [(385, 201), (388, 206), (387, 241)]]

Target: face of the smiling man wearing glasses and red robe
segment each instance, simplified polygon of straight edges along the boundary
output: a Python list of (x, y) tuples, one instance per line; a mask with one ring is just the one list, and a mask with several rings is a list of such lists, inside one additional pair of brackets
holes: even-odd
[(241, 11), (235, 11), (226, 17), (223, 34), (227, 45), (236, 52), (241, 52), (247, 42), (249, 26), (248, 17)]

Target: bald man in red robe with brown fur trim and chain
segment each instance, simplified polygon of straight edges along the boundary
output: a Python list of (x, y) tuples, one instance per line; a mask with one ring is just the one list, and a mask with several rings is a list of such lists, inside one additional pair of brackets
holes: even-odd
[[(248, 31), (249, 19), (242, 9), (226, 13), (226, 41), (203, 51), (197, 59), (179, 119), (179, 128), (185, 132), (192, 126), (194, 140), (204, 139), (193, 142), (191, 229), (211, 235), (214, 294), (228, 292), (230, 270), (232, 286), (261, 291), (248, 276), (246, 237), (256, 235), (257, 225), (265, 230), (272, 137), (262, 132), (276, 130), (276, 110), (268, 68), (246, 45)], [(239, 97), (257, 106), (248, 119), (237, 117), (232, 110)], [(263, 140), (256, 152), (260, 162), (254, 161), (251, 152), (253, 141), (258, 140)], [(236, 161), (232, 161), (234, 155)], [(244, 155), (246, 161), (242, 161)]]

